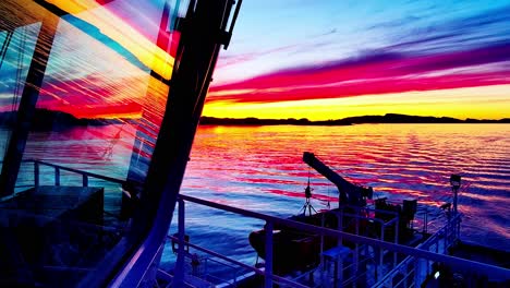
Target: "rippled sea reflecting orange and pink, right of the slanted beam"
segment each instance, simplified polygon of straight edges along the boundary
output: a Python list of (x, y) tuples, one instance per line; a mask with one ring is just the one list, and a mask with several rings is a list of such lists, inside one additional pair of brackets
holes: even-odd
[[(417, 199), (418, 220), (427, 211), (433, 223), (452, 202), (449, 177), (459, 173), (461, 237), (510, 250), (508, 124), (202, 127), (181, 192), (288, 217), (302, 208), (309, 177), (314, 207), (336, 207), (335, 185), (302, 161), (304, 151), (373, 187), (375, 197)], [(247, 235), (263, 223), (192, 204), (186, 215), (192, 242), (253, 264)]]

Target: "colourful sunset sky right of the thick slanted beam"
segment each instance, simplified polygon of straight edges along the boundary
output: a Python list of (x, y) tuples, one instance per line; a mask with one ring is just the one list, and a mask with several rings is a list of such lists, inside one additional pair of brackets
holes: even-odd
[(204, 115), (510, 117), (510, 1), (244, 1)]

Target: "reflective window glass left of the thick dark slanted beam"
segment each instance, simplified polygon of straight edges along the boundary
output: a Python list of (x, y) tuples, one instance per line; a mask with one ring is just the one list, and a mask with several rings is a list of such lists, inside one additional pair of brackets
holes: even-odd
[(163, 0), (0, 3), (0, 286), (74, 286), (117, 264), (104, 257), (129, 232), (150, 164), (179, 11)]

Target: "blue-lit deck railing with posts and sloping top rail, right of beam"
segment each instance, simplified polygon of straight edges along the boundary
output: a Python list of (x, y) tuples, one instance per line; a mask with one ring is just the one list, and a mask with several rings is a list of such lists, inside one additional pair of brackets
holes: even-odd
[[(385, 267), (381, 272), (382, 273), (374, 273), (375, 274), (375, 281), (371, 281), (369, 285), (375, 285), (375, 287), (416, 287), (421, 283), (425, 280), (425, 276), (428, 275), (432, 268), (432, 263), (440, 262), (446, 265), (450, 265), (461, 271), (467, 272), (475, 272), (477, 274), (483, 275), (490, 275), (503, 280), (510, 280), (510, 269), (488, 265), (485, 263), (469, 261), (464, 259), (458, 259), (453, 256), (449, 256), (446, 254), (441, 254), (447, 251), (447, 249), (454, 243), (459, 236), (459, 224), (460, 224), (460, 215), (457, 215), (448, 224), (437, 231), (434, 236), (428, 238), (425, 242), (423, 242), (417, 248), (406, 247), (398, 243), (386, 242), (379, 239), (367, 238), (363, 236), (347, 233), (338, 230), (332, 230), (319, 226), (307, 225), (299, 221), (293, 221), (290, 219), (278, 218), (270, 215), (265, 215), (260, 213), (255, 213), (251, 211), (245, 211), (232, 206), (227, 206), (223, 204), (209, 202), (187, 195), (179, 195), (179, 237), (175, 238), (179, 242), (179, 251), (178, 251), (178, 260), (177, 260), (177, 267), (175, 272), (172, 275), (172, 287), (181, 287), (180, 285), (184, 281), (184, 271), (182, 269), (182, 264), (185, 257), (184, 253), (184, 245), (190, 245), (194, 249), (203, 251), (205, 253), (211, 254), (216, 257), (219, 257), (226, 262), (232, 263), (233, 265), (238, 265), (242, 268), (246, 268), (253, 271), (254, 273), (262, 275), (265, 277), (264, 285), (265, 287), (272, 287), (274, 283), (278, 283), (284, 287), (307, 287), (303, 284), (298, 281), (293, 281), (272, 273), (272, 232), (275, 225), (278, 226), (287, 226), (290, 228), (295, 228), (302, 231), (313, 232), (316, 235), (321, 236), (329, 236), (329, 237), (337, 237), (338, 239), (343, 239), (347, 241), (355, 242), (361, 247), (361, 250), (367, 250), (368, 253), (365, 253), (366, 256), (365, 261), (367, 263), (374, 263), (377, 265), (378, 261), (368, 261), (369, 254), (375, 254), (376, 259), (379, 260), (380, 255), (388, 254), (388, 253), (399, 253), (399, 255), (406, 256), (398, 263), (397, 265), (390, 265), (389, 267)], [(260, 269), (235, 260), (229, 259), (220, 253), (199, 248), (187, 241), (184, 241), (184, 202), (192, 202), (195, 204), (208, 206), (211, 208), (217, 208), (226, 212), (235, 213), (239, 215), (243, 215), (246, 217), (257, 218), (266, 221), (265, 230), (266, 230), (266, 263), (265, 268)], [(392, 262), (392, 261), (390, 261)], [(367, 264), (363, 273), (373, 274), (373, 268), (368, 267)], [(400, 281), (397, 281), (399, 279)], [(354, 283), (352, 278), (347, 279), (343, 285), (348, 285), (349, 280)], [(397, 283), (396, 283), (397, 281)], [(323, 285), (323, 284), (321, 284)], [(328, 284), (324, 284), (323, 287), (328, 287)]]

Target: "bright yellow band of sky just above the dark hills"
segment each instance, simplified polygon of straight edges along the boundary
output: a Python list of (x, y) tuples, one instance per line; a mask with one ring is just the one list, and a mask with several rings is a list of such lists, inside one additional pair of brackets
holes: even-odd
[[(483, 96), (482, 96), (483, 95)], [(404, 113), (459, 119), (510, 118), (510, 85), (494, 85), (425, 92), (405, 92), (353, 97), (271, 103), (214, 100), (204, 116), (218, 118), (307, 118), (331, 120), (347, 117)]]

